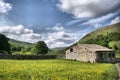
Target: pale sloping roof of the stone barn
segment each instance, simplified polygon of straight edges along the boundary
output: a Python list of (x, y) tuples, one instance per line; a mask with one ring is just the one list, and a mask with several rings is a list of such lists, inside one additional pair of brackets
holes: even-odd
[[(90, 51), (113, 51), (112, 49), (96, 45), (96, 44), (77, 44), (79, 48), (85, 48)], [(74, 46), (73, 46), (74, 47)]]

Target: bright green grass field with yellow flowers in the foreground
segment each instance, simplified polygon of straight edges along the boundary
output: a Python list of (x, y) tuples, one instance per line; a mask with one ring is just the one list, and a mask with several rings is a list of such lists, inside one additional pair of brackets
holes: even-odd
[(0, 60), (0, 80), (116, 80), (114, 64), (71, 60)]

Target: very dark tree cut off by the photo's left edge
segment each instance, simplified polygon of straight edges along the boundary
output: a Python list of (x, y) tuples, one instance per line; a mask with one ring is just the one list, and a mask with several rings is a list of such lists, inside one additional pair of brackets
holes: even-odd
[(4, 53), (4, 51), (10, 53), (10, 44), (8, 43), (8, 38), (3, 34), (0, 34), (0, 51)]

